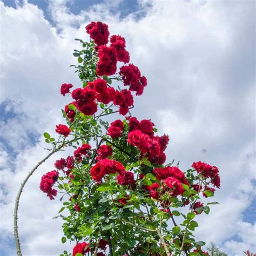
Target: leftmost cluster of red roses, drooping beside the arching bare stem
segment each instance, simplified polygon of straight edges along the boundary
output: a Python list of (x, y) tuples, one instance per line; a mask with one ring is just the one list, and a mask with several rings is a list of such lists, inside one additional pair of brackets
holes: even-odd
[(41, 183), (39, 185), (40, 189), (44, 192), (47, 193), (47, 196), (52, 200), (54, 197), (57, 196), (57, 190), (53, 189), (52, 186), (55, 184), (55, 182), (58, 179), (58, 172), (55, 170), (46, 173), (43, 175), (41, 179)]

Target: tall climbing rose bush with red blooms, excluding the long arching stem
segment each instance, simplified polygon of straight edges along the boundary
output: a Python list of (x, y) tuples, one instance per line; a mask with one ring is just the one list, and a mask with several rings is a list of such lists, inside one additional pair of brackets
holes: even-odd
[[(174, 161), (165, 163), (169, 136), (129, 111), (147, 79), (130, 63), (125, 38), (110, 36), (102, 22), (85, 29), (91, 40), (76, 39), (83, 49), (75, 50), (78, 64), (72, 65), (83, 86), (62, 84), (60, 93), (72, 98), (62, 110), (66, 124), (56, 126), (57, 140), (44, 133), (52, 151), (75, 150), (39, 185), (63, 202), (55, 217), (64, 221), (62, 242), (76, 242), (73, 256), (208, 255), (193, 231), (197, 215), (217, 204), (200, 198), (220, 187), (218, 168), (198, 161), (181, 171)], [(109, 124), (109, 114), (120, 117)]]

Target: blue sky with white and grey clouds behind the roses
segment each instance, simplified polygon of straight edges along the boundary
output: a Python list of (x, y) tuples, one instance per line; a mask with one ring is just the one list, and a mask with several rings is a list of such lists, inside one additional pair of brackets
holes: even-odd
[[(62, 123), (70, 102), (62, 83), (81, 86), (73, 38), (89, 39), (90, 21), (126, 38), (131, 62), (147, 77), (134, 116), (168, 133), (168, 159), (188, 169), (203, 160), (220, 169), (221, 189), (210, 215), (198, 217), (198, 240), (228, 255), (255, 251), (255, 2), (158, 0), (0, 1), (0, 255), (15, 255), (12, 212), (18, 186), (47, 152), (42, 134)], [(58, 200), (39, 191), (43, 173), (26, 184), (19, 208), (24, 255), (59, 255)]]

